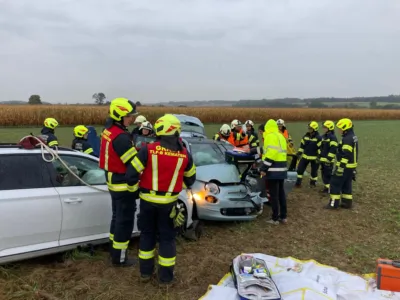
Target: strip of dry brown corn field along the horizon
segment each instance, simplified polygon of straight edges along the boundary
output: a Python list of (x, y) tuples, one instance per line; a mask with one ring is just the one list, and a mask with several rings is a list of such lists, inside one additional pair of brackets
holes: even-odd
[[(60, 126), (103, 125), (107, 106), (79, 105), (0, 105), (0, 126), (42, 126), (45, 118), (55, 118)], [(336, 108), (235, 108), (235, 107), (138, 107), (138, 112), (150, 122), (165, 113), (187, 114), (198, 117), (203, 123), (265, 122), (268, 119), (285, 121), (336, 121), (400, 119), (400, 110), (336, 109)]]

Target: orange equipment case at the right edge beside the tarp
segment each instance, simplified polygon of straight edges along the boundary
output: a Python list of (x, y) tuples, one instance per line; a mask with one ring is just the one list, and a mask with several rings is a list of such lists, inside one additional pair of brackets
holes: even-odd
[(400, 292), (400, 260), (379, 258), (376, 267), (376, 284), (380, 290)]

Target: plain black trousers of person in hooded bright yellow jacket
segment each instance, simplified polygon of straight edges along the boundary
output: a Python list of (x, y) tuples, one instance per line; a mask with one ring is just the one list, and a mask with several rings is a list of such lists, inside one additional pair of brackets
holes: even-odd
[(272, 207), (272, 220), (286, 219), (286, 195), (284, 189), (284, 179), (267, 179)]

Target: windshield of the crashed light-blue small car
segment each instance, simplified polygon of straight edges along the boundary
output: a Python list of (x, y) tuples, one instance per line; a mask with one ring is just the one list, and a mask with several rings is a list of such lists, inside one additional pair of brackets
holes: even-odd
[(225, 162), (224, 155), (215, 144), (191, 144), (191, 151), (197, 167)]

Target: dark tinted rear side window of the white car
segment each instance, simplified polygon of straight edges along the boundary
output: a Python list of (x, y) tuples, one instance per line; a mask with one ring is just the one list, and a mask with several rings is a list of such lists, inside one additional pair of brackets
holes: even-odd
[(0, 190), (53, 187), (39, 155), (1, 155)]

